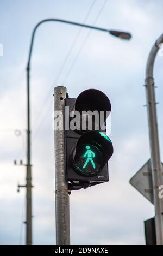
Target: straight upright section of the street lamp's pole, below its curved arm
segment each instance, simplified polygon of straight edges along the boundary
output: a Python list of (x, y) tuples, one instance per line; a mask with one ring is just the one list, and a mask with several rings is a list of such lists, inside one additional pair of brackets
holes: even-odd
[(27, 184), (26, 184), (26, 245), (32, 245), (32, 175), (30, 164), (30, 91), (27, 67)]

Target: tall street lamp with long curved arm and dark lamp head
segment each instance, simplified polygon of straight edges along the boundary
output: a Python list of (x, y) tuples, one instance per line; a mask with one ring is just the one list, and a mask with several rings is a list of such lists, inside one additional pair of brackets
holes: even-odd
[[(102, 32), (107, 32), (111, 35), (114, 35), (115, 37), (129, 40), (131, 38), (131, 34), (128, 32), (122, 32), (122, 31), (113, 31), (110, 29), (105, 29), (101, 27), (95, 27), (95, 26), (90, 26), (90, 25), (85, 25), (82, 23), (78, 22), (72, 22), (72, 21), (67, 21), (67, 20), (60, 20), (60, 19), (46, 19), (42, 20), (37, 25), (35, 26), (33, 33), (32, 33), (32, 39), (30, 42), (30, 49), (29, 49), (29, 56), (28, 56), (28, 63), (27, 63), (27, 195), (26, 195), (26, 200), (27, 200), (27, 209), (26, 209), (26, 244), (27, 245), (32, 245), (32, 176), (31, 176), (31, 164), (30, 164), (30, 59), (32, 56), (32, 50), (33, 50), (33, 44), (34, 44), (34, 37), (37, 28), (45, 22), (50, 22), (50, 21), (55, 21), (55, 22), (62, 22), (62, 23), (67, 23), (69, 25), (74, 25), (74, 26), (80, 26), (80, 27), (85, 27), (85, 28), (90, 28), (90, 29), (95, 29), (97, 31), (102, 31)], [(66, 243), (70, 243), (70, 239), (66, 241)]]

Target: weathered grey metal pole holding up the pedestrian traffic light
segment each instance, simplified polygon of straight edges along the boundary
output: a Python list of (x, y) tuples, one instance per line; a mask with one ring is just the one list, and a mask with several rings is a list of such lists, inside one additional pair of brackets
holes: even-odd
[[(54, 88), (54, 111), (59, 111), (62, 129), (54, 128), (55, 144), (55, 223), (56, 244), (70, 245), (70, 205), (68, 182), (65, 180), (65, 136), (64, 136), (64, 99), (66, 88)], [(55, 116), (55, 113), (54, 113)]]

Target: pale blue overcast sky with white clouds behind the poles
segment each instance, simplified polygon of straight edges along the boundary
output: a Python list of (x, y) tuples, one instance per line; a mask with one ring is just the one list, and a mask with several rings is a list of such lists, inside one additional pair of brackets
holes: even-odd
[[(162, 1), (1, 0), (0, 43), (0, 244), (25, 241), (26, 65), (37, 22), (47, 18), (85, 22), (129, 31), (130, 41), (61, 23), (46, 23), (36, 33), (32, 56), (33, 242), (55, 243), (53, 88), (65, 86), (76, 98), (87, 88), (102, 90), (112, 105), (110, 181), (70, 197), (71, 243), (143, 245), (143, 221), (154, 207), (130, 186), (130, 178), (150, 157), (145, 88), (146, 61), (162, 33)], [(75, 42), (75, 43), (74, 43)], [(71, 47), (73, 45), (73, 48)], [(71, 49), (71, 52), (70, 52)], [(67, 56), (70, 52), (69, 56)], [(66, 59), (66, 62), (65, 62)], [(161, 157), (163, 57), (155, 62)], [(64, 65), (64, 66), (63, 66)], [(21, 130), (16, 136), (15, 129)]]

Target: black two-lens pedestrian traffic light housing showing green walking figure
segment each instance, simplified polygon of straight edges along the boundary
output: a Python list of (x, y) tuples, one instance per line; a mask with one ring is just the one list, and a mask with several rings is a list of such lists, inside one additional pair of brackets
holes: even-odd
[(106, 135), (110, 100), (95, 89), (65, 99), (66, 180), (71, 190), (108, 182), (111, 140)]

